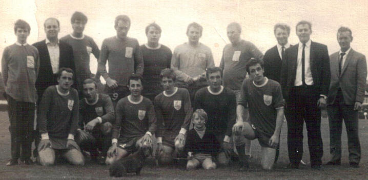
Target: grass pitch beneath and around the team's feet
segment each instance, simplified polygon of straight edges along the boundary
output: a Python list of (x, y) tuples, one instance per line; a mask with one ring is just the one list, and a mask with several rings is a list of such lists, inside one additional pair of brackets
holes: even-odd
[[(309, 165), (300, 166), (298, 170), (283, 169), (288, 165), (287, 151), (287, 128), (284, 123), (281, 132), (280, 157), (275, 165), (274, 171), (263, 171), (260, 163), (260, 146), (258, 141), (252, 145), (252, 160), (250, 170), (238, 172), (237, 165), (222, 167), (215, 170), (193, 170), (187, 171), (182, 166), (156, 167), (153, 159), (148, 159), (140, 176), (128, 175), (128, 177), (111, 178), (108, 176), (108, 166), (100, 166), (89, 161), (85, 166), (71, 166), (68, 164), (56, 164), (54, 166), (42, 167), (39, 165), (17, 165), (7, 167), (5, 164), (10, 158), (10, 135), (8, 131), (9, 121), (7, 112), (0, 112), (0, 179), (368, 179), (368, 121), (359, 121), (359, 134), (362, 149), (360, 168), (349, 166), (347, 161), (346, 132), (342, 133), (342, 159), (341, 166), (323, 166), (321, 170), (313, 170)], [(322, 162), (329, 161), (329, 125), (328, 119), (322, 119), (322, 138), (324, 155)], [(306, 131), (304, 128), (304, 137)], [(304, 138), (304, 162), (309, 162), (308, 146)]]

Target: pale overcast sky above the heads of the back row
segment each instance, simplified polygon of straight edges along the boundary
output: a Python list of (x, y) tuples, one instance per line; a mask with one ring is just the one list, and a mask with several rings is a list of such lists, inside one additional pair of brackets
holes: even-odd
[[(339, 50), (336, 32), (340, 26), (353, 31), (352, 48), (368, 53), (368, 1), (70, 1), (70, 0), (2, 0), (0, 21), (0, 53), (16, 41), (14, 22), (24, 19), (31, 26), (28, 43), (45, 39), (43, 23), (48, 17), (60, 21), (59, 37), (72, 32), (70, 17), (81, 11), (88, 17), (85, 34), (94, 38), (100, 47), (102, 41), (116, 35), (114, 18), (126, 14), (131, 18), (128, 36), (147, 42), (145, 27), (156, 22), (162, 28), (160, 43), (171, 50), (188, 41), (186, 28), (197, 22), (203, 26), (200, 42), (212, 49), (215, 64), (220, 63), (222, 49), (229, 43), (226, 26), (238, 22), (242, 27), (242, 38), (255, 44), (263, 53), (275, 46), (273, 26), (286, 23), (291, 26), (289, 42), (298, 43), (295, 25), (300, 20), (312, 23), (312, 41), (325, 44), (332, 54)], [(91, 70), (97, 69), (95, 58), (91, 58)]]

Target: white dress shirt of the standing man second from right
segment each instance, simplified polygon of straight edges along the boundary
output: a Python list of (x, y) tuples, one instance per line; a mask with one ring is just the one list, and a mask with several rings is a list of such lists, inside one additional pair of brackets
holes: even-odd
[[(303, 51), (303, 43), (299, 42), (298, 47), (298, 58), (296, 63), (296, 76), (294, 86), (301, 86), (303, 85), (301, 79), (301, 54)], [(311, 39), (305, 43), (304, 48), (304, 81), (306, 85), (312, 86), (313, 85), (313, 77), (311, 71), (311, 64), (310, 64), (310, 52), (311, 52)]]

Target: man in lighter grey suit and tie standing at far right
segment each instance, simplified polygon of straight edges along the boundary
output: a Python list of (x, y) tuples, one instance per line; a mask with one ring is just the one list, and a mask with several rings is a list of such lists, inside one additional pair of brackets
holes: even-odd
[(352, 31), (341, 27), (337, 31), (337, 42), (341, 49), (330, 56), (331, 84), (327, 99), (330, 123), (330, 153), (328, 165), (341, 164), (341, 130), (344, 119), (349, 164), (359, 167), (360, 143), (358, 136), (358, 110), (364, 100), (367, 67), (365, 56), (350, 47)]

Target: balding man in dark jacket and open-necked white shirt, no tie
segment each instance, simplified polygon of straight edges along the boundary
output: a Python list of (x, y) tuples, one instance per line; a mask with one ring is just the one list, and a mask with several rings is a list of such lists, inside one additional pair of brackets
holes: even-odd
[[(59, 21), (50, 17), (44, 23), (46, 39), (33, 44), (39, 53), (39, 73), (36, 79), (37, 91), (37, 114), (38, 105), (41, 102), (42, 95), (49, 86), (57, 85), (57, 72), (59, 68), (71, 68), (75, 72), (73, 49), (67, 43), (59, 41), (57, 35), (60, 31)], [(74, 77), (74, 76), (73, 76)], [(76, 79), (74, 78), (74, 81)], [(72, 87), (76, 88), (76, 84)], [(35, 145), (39, 141), (38, 130), (35, 132)], [(33, 151), (33, 156), (38, 156), (37, 148)]]

